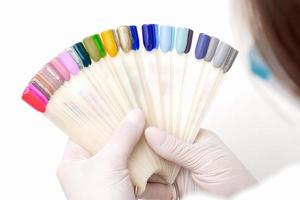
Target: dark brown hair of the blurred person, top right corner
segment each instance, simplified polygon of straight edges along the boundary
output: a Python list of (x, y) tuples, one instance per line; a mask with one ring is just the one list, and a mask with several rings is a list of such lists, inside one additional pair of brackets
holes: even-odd
[(248, 0), (245, 3), (260, 53), (274, 74), (299, 95), (300, 0)]

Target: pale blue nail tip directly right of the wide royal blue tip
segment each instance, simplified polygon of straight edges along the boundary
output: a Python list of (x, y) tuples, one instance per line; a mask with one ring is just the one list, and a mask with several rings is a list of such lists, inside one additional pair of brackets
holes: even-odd
[(162, 52), (172, 51), (174, 48), (174, 30), (172, 26), (160, 26), (160, 49)]

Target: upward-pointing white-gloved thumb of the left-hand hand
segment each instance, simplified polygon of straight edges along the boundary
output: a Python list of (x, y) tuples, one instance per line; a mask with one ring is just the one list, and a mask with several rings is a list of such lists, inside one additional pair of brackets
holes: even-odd
[(143, 134), (144, 126), (143, 112), (139, 109), (132, 110), (98, 154), (112, 159), (114, 164), (126, 165), (128, 157)]

